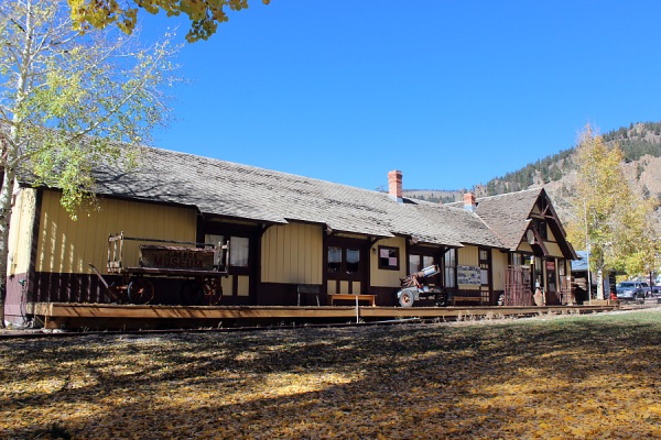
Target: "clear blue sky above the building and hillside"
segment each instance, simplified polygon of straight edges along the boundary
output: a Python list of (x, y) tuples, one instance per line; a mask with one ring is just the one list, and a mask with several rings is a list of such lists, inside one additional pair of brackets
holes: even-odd
[[(486, 183), (661, 120), (659, 1), (252, 0), (177, 59), (159, 147), (375, 189)], [(150, 33), (182, 19), (141, 15)]]

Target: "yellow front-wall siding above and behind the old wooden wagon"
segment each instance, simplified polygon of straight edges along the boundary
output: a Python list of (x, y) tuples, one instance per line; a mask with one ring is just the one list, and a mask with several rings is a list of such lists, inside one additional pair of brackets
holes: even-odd
[[(101, 272), (108, 258), (108, 235), (195, 241), (196, 211), (155, 204), (100, 199), (100, 210), (78, 213), (74, 221), (59, 205), (59, 194), (44, 191), (42, 198), (37, 272), (89, 273), (88, 263)], [(139, 242), (127, 241), (123, 265), (138, 265)]]

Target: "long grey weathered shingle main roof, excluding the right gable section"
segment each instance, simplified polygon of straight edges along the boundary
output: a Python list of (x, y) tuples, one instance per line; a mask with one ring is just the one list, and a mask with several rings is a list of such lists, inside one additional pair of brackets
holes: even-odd
[(263, 223), (305, 221), (376, 238), (506, 248), (463, 208), (413, 199), (398, 202), (384, 193), (167, 150), (144, 147), (143, 156), (140, 168), (130, 174), (98, 166), (96, 193), (192, 206), (203, 215)]

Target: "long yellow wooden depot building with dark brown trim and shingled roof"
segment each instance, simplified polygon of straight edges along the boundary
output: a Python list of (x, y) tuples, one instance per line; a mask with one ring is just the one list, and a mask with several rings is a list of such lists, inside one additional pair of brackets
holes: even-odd
[[(108, 301), (89, 264), (113, 278), (105, 272), (108, 237), (120, 231), (230, 243), (227, 306), (325, 305), (328, 294), (376, 295), (379, 306), (395, 306), (400, 278), (430, 265), (441, 268), (431, 282), (467, 304), (530, 305), (535, 286), (549, 305), (567, 301), (576, 254), (541, 188), (467, 194), (463, 205), (444, 206), (402, 197), (398, 170), (388, 174), (389, 193), (379, 193), (173, 151), (143, 153), (129, 174), (110, 164), (95, 169), (99, 209), (77, 221), (57, 188), (19, 182), (9, 321), (30, 318), (30, 304)], [(126, 264), (138, 265), (138, 245), (123, 251)], [(152, 304), (178, 304), (182, 284), (154, 278)], [(316, 298), (301, 299), (301, 285), (316, 286)]]

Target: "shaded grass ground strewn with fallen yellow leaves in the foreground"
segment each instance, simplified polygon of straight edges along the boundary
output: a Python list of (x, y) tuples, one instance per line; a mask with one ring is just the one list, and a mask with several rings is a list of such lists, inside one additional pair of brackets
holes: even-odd
[(661, 309), (0, 340), (0, 438), (660, 438)]

